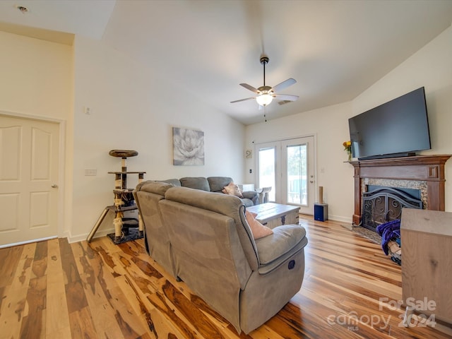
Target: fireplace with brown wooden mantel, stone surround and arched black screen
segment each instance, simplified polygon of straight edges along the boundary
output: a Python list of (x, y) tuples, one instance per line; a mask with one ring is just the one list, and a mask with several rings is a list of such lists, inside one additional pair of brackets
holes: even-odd
[[(352, 217), (353, 225), (361, 225), (364, 219), (376, 220), (375, 216), (364, 215), (364, 203), (372, 204), (369, 198), (369, 185), (384, 186), (386, 191), (379, 191), (377, 209), (381, 210), (381, 204), (393, 203), (394, 196), (398, 204), (400, 201), (403, 207), (424, 208), (428, 210), (444, 210), (444, 165), (451, 155), (417, 155), (414, 157), (395, 157), (388, 159), (375, 160), (358, 160), (350, 162), (354, 167), (355, 178), (355, 213)], [(396, 189), (395, 192), (392, 191)], [(406, 189), (415, 189), (419, 191), (418, 201), (411, 201), (413, 194), (408, 194), (409, 198), (405, 199), (403, 195), (407, 195)], [(404, 191), (405, 190), (405, 191)], [(402, 198), (400, 199), (400, 194)], [(383, 198), (389, 199), (381, 202)], [(415, 199), (416, 200), (416, 199)], [(412, 205), (412, 206), (411, 206)], [(387, 205), (386, 205), (387, 206)], [(400, 207), (401, 211), (401, 207)], [(391, 213), (397, 213), (392, 210)], [(388, 210), (381, 213), (378, 222), (386, 222)], [(396, 219), (396, 218), (394, 218)], [(375, 230), (376, 225), (371, 226)], [(369, 228), (369, 227), (367, 227)]]

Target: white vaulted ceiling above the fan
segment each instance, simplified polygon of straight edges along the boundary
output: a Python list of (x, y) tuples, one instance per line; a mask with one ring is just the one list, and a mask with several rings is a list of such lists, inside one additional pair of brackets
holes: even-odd
[(452, 1), (2, 0), (0, 23), (102, 40), (252, 124), (256, 102), (230, 101), (254, 95), (239, 83), (263, 85), (261, 54), (266, 85), (295, 78), (282, 93), (299, 95), (268, 119), (350, 101), (448, 28)]

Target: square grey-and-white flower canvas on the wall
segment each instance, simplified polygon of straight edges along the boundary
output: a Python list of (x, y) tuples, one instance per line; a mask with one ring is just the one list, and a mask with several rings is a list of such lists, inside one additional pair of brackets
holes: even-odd
[(204, 165), (204, 132), (172, 129), (173, 165)]

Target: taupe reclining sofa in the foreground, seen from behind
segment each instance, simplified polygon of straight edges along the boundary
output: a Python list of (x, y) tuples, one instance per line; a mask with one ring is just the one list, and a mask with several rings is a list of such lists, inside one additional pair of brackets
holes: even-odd
[(155, 181), (138, 184), (133, 194), (151, 258), (238, 333), (261, 326), (299, 291), (302, 226), (278, 226), (255, 240), (237, 196)]

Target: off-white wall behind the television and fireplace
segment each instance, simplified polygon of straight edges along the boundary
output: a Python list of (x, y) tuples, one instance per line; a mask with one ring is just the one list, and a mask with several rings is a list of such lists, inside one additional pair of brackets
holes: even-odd
[[(352, 115), (424, 86), (432, 150), (452, 154), (452, 27), (353, 100)], [(446, 211), (452, 211), (452, 159), (446, 162)]]

